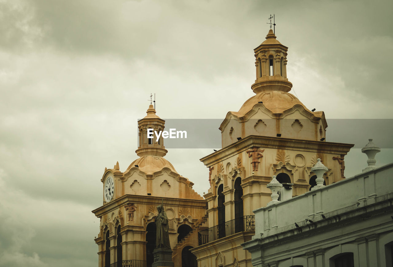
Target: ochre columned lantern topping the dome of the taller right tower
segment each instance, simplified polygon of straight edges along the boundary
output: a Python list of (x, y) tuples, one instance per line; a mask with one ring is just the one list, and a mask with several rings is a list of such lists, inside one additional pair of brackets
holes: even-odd
[(251, 86), (254, 93), (263, 91), (284, 91), (292, 88), (286, 78), (286, 59), (288, 48), (282, 45), (270, 29), (266, 40), (254, 49), (256, 80)]

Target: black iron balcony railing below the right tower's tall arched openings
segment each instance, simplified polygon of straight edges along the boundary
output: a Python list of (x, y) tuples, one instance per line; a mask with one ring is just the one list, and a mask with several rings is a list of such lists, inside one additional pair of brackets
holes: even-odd
[(203, 245), (238, 232), (254, 230), (255, 216), (247, 215), (198, 232), (198, 244)]

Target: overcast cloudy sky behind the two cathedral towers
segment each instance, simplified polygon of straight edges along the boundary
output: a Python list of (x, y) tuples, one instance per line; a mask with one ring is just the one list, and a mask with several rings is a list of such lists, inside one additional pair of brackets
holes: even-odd
[[(100, 179), (136, 159), (150, 93), (163, 119), (239, 110), (253, 95), (253, 48), (270, 13), (308, 108), (392, 119), (392, 9), (390, 0), (0, 0), (0, 266), (97, 266)], [(367, 143), (354, 134), (358, 148)], [(329, 128), (327, 141), (340, 141)], [(366, 165), (358, 148), (345, 158), (347, 177)], [(166, 158), (202, 194), (199, 159), (211, 152)], [(377, 165), (392, 155), (382, 149)]]

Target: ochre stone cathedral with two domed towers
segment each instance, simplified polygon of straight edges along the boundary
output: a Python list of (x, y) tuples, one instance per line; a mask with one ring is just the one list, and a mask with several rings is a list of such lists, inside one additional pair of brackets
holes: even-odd
[[(222, 148), (200, 159), (209, 169), (206, 179), (210, 188), (203, 196), (165, 159), (163, 137), (148, 138), (148, 129), (165, 128), (165, 121), (149, 106), (147, 115), (138, 121), (138, 158), (124, 172), (118, 163), (105, 168), (101, 178), (103, 205), (92, 211), (100, 218), (95, 238), (99, 267), (161, 266), (154, 265), (153, 255), (154, 219), (160, 205), (167, 214), (172, 250), (171, 263), (165, 266), (352, 266), (314, 264), (315, 252), (309, 256), (312, 265), (307, 265), (307, 257), (305, 264), (290, 263), (292, 256), (285, 249), (285, 241), (274, 243), (275, 238), (284, 240), (285, 236), (275, 236), (280, 227), (289, 231), (287, 236), (296, 234), (298, 228), (306, 233), (310, 222), (300, 222), (300, 217), (312, 222), (317, 216), (325, 217), (321, 196), (326, 193), (322, 192), (337, 188), (328, 185), (348, 180), (344, 177), (344, 157), (353, 147), (327, 142), (323, 111), (309, 110), (289, 93), (292, 83), (286, 75), (287, 52), (288, 47), (277, 40), (272, 29), (254, 49), (256, 79), (250, 98), (217, 125)], [(299, 204), (292, 205), (290, 212), (280, 208), (283, 203), (295, 203), (292, 200)], [(319, 206), (310, 211), (314, 203)], [(298, 221), (290, 221), (295, 230), (287, 227), (285, 212), (300, 216)], [(270, 238), (268, 245), (263, 243), (265, 236)], [(264, 245), (266, 251), (281, 245), (283, 252), (277, 256), (273, 249), (266, 262)], [(290, 249), (296, 250), (296, 245), (293, 241)], [(285, 265), (275, 260), (279, 257)]]

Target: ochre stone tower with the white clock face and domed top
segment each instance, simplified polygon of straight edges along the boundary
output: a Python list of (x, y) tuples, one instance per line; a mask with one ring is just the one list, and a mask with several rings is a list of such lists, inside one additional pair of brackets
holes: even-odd
[(138, 121), (139, 158), (124, 172), (118, 162), (112, 169), (105, 168), (101, 178), (103, 205), (92, 211), (100, 218), (95, 239), (99, 267), (151, 266), (156, 247), (154, 218), (161, 203), (168, 217), (172, 261), (179, 266), (182, 253), (188, 253), (196, 262), (189, 249), (198, 245), (197, 240), (185, 238), (191, 233), (196, 237), (206, 223), (206, 201), (165, 159), (168, 151), (162, 136), (158, 140), (148, 138), (148, 129), (162, 131), (165, 121), (152, 105), (146, 113)]

